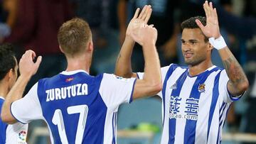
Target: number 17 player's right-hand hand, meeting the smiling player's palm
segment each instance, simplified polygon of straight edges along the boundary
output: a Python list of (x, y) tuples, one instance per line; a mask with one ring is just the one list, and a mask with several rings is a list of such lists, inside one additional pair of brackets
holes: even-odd
[(131, 33), (132, 39), (139, 43), (139, 45), (153, 44), (156, 45), (157, 30), (153, 25), (143, 24), (135, 28)]

